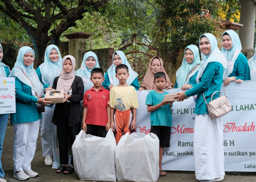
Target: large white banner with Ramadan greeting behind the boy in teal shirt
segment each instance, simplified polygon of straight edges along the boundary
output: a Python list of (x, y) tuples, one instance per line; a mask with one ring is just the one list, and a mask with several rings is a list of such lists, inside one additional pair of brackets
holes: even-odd
[[(256, 80), (230, 83), (225, 88), (233, 109), (223, 116), (223, 147), (225, 171), (256, 171)], [(170, 89), (167, 92), (180, 92)], [(150, 112), (145, 105), (149, 90), (137, 91), (136, 132), (150, 132)], [(223, 87), (221, 88), (223, 95)], [(164, 148), (162, 168), (165, 170), (195, 170), (193, 130), (195, 96), (174, 102), (170, 147)]]

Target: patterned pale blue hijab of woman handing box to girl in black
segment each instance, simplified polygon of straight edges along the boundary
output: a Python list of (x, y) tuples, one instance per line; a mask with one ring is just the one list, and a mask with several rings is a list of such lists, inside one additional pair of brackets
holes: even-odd
[(9, 77), (17, 77), (21, 82), (31, 87), (33, 96), (39, 97), (44, 94), (44, 87), (40, 82), (35, 69), (33, 68), (34, 62), (30, 66), (25, 66), (23, 57), (27, 52), (32, 52), (35, 57), (35, 52), (28, 46), (19, 49), (14, 68), (12, 68)]

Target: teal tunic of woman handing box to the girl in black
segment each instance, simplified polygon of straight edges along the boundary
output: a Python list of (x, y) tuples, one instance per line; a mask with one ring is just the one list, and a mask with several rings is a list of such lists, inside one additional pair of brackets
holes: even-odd
[(11, 114), (11, 123), (27, 123), (42, 118), (37, 111), (37, 98), (32, 95), (31, 87), (15, 77), (16, 113)]

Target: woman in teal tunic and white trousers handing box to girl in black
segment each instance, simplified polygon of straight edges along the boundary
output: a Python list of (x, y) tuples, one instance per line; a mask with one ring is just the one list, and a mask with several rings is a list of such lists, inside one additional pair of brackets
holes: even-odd
[(20, 48), (14, 68), (9, 77), (15, 77), (16, 113), (11, 114), (11, 123), (14, 128), (14, 175), (19, 180), (37, 177), (38, 173), (31, 170), (31, 161), (35, 154), (39, 131), (41, 112), (37, 110), (37, 103), (49, 105), (46, 101), (44, 86), (38, 79), (33, 68), (34, 51), (24, 46)]

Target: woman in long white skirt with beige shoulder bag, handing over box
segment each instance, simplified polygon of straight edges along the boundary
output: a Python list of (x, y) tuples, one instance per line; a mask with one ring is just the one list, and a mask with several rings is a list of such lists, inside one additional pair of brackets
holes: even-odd
[[(207, 102), (219, 91), (227, 63), (217, 46), (217, 39), (211, 33), (204, 33), (199, 39), (202, 63), (196, 76), (197, 85), (188, 91), (178, 93), (178, 101), (197, 94), (193, 149), (196, 179), (199, 181), (222, 181), (224, 179), (223, 121), (222, 117), (211, 119)], [(215, 94), (212, 99), (218, 98)]]

